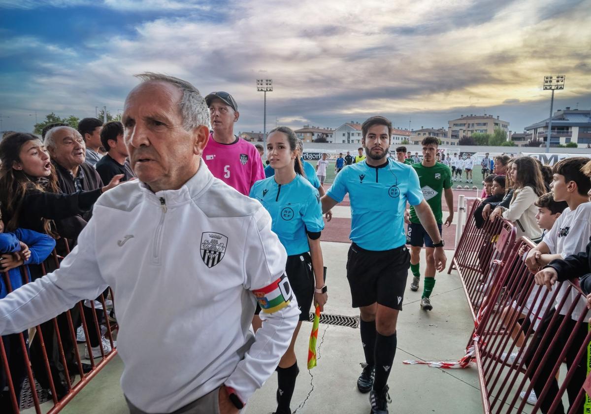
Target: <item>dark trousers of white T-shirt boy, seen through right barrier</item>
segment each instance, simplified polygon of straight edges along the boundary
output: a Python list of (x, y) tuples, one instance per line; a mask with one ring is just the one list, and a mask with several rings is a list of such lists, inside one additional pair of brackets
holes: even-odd
[[(556, 310), (552, 309), (549, 312), (548, 316), (544, 319), (544, 321), (542, 321), (541, 324), (538, 326), (538, 330), (535, 332), (534, 337), (532, 338), (533, 342), (531, 345), (528, 346), (528, 348), (530, 349), (531, 347), (533, 347), (533, 350), (532, 352), (530, 352), (530, 355), (526, 356), (526, 365), (530, 366), (530, 364), (532, 364), (534, 367), (530, 374), (531, 380), (533, 374), (538, 369), (538, 366), (541, 363), (541, 357), (543, 357), (543, 354), (545, 352), (541, 352), (540, 357), (538, 357), (535, 360), (533, 360), (533, 356), (538, 347), (540, 347), (541, 340), (544, 337), (545, 332), (548, 331), (548, 329), (550, 329), (550, 339), (543, 345), (544, 350), (550, 351), (550, 356), (547, 359), (547, 363), (545, 363), (541, 367), (540, 376), (538, 376), (538, 379), (533, 383), (535, 394), (538, 396), (539, 399), (547, 381), (551, 382), (550, 389), (548, 389), (548, 392), (546, 393), (546, 396), (540, 405), (541, 412), (543, 412), (544, 414), (550, 412), (550, 406), (552, 405), (554, 397), (556, 397), (556, 394), (558, 394), (559, 389), (558, 381), (556, 380), (556, 377), (552, 375), (552, 368), (554, 367), (554, 364), (556, 364), (556, 361), (560, 357), (560, 353), (564, 350), (564, 347), (566, 347), (566, 343), (569, 339), (569, 336), (573, 331), (576, 331), (576, 334), (571, 344), (571, 347), (566, 352), (567, 367), (569, 367), (569, 370), (571, 367), (575, 367), (574, 376), (566, 389), (567, 394), (569, 395), (569, 404), (571, 406), (574, 400), (576, 399), (577, 394), (579, 394), (579, 391), (583, 387), (583, 383), (587, 376), (587, 352), (584, 352), (579, 360), (575, 361), (575, 357), (587, 336), (589, 324), (587, 324), (586, 322), (577, 324), (577, 322), (573, 321), (573, 319), (571, 319), (570, 316), (557, 315), (557, 321), (555, 321), (554, 326), (550, 328), (550, 321), (555, 312)], [(560, 327), (560, 324), (562, 323), (564, 318), (567, 318), (566, 326), (564, 329), (562, 329), (561, 332), (558, 332), (558, 328)], [(551, 349), (549, 344), (550, 341), (557, 342), (551, 347)], [(564, 406), (562, 402), (560, 402), (558, 403), (557, 409), (553, 412), (553, 414), (563, 414), (564, 412)], [(572, 410), (571, 412), (583, 413), (583, 403), (577, 405), (576, 409)]]

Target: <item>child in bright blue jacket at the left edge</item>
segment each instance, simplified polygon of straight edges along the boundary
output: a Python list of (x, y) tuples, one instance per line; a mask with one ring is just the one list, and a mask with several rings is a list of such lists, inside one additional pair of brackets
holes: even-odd
[[(8, 295), (23, 284), (23, 278), (28, 271), (21, 273), (21, 266), (40, 264), (46, 260), (56, 246), (56, 241), (46, 234), (33, 230), (17, 228), (14, 232), (4, 232), (4, 222), (0, 213), (0, 299)], [(5, 335), (2, 337), (4, 350), (7, 354), (8, 367), (14, 386), (17, 401), (21, 400), (22, 383), (27, 373), (24, 354), (22, 352), (21, 334)], [(28, 343), (28, 331), (22, 332), (25, 343)], [(4, 369), (0, 370), (0, 412), (12, 412), (12, 403)]]

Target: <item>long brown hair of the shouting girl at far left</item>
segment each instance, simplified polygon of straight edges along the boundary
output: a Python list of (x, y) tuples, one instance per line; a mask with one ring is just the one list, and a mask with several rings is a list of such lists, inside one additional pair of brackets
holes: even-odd
[[(7, 231), (15, 231), (18, 228), (19, 214), (27, 191), (59, 192), (53, 164), (51, 174), (45, 180), (38, 180), (37, 177), (28, 176), (22, 170), (12, 168), (13, 163), (21, 162), (22, 145), (33, 140), (39, 140), (39, 138), (25, 132), (14, 132), (7, 135), (0, 143), (0, 203), (3, 216), (7, 219)], [(56, 237), (57, 234), (51, 231), (51, 221), (47, 219), (41, 219), (41, 221), (46, 234)]]

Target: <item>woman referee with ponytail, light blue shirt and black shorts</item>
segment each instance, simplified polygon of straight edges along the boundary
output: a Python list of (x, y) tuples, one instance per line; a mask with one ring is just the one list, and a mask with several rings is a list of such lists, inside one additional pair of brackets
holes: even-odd
[[(291, 396), (299, 373), (294, 345), (301, 321), (309, 320), (313, 301), (322, 311), (327, 300), (320, 250), (320, 232), (324, 228), (320, 196), (302, 176), (303, 167), (297, 154), (297, 137), (290, 128), (278, 127), (269, 132), (267, 159), (275, 175), (256, 182), (250, 192), (250, 196), (259, 200), (271, 214), (271, 228), (287, 251), (285, 273), (301, 310), (290, 347), (277, 368), (276, 414), (291, 413)], [(260, 311), (257, 307), (257, 313)], [(262, 309), (261, 315), (264, 313)], [(255, 316), (255, 329), (260, 326), (257, 319)]]

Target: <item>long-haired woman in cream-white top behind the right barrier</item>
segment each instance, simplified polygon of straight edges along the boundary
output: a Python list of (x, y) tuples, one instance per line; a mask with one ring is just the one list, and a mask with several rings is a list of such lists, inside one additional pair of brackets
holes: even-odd
[(517, 237), (525, 236), (539, 242), (542, 232), (535, 221), (537, 208), (534, 203), (546, 192), (540, 167), (531, 157), (518, 157), (512, 160), (507, 176), (514, 182), (511, 203), (509, 208), (495, 208), (491, 220), (502, 216), (515, 224)]

